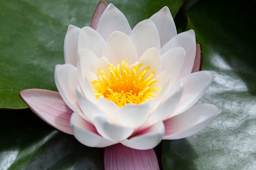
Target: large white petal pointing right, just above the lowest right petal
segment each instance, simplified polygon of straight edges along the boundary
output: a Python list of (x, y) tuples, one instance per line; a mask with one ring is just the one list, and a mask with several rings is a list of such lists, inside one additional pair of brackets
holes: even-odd
[[(193, 106), (211, 86), (214, 77), (215, 73), (212, 71), (198, 71), (180, 79), (179, 81), (184, 85), (183, 94), (177, 107), (168, 118), (178, 115)], [(168, 94), (166, 97), (168, 97)]]

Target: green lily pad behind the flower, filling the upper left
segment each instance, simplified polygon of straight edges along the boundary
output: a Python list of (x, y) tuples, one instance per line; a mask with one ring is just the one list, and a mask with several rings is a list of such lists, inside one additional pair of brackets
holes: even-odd
[[(0, 1), (0, 108), (26, 108), (18, 95), (23, 89), (56, 91), (54, 67), (64, 60), (63, 40), (67, 26), (90, 26), (98, 2)], [(165, 5), (175, 14), (182, 4), (182, 0), (110, 2), (123, 11), (132, 27)]]

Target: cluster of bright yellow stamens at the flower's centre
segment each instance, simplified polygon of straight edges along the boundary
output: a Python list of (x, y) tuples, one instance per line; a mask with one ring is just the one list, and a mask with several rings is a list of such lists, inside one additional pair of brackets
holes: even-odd
[(99, 69), (102, 73), (99, 75), (99, 81), (91, 82), (95, 85), (93, 91), (97, 99), (103, 96), (122, 107), (128, 103), (140, 104), (156, 97), (157, 95), (153, 92), (159, 91), (161, 88), (152, 88), (152, 85), (157, 82), (157, 79), (152, 78), (155, 72), (153, 71), (148, 77), (145, 77), (150, 66), (140, 71), (141, 66), (142, 63), (135, 66), (130, 73), (125, 60), (121, 62), (121, 69), (120, 64), (117, 64), (117, 67), (108, 65), (110, 77), (105, 71)]

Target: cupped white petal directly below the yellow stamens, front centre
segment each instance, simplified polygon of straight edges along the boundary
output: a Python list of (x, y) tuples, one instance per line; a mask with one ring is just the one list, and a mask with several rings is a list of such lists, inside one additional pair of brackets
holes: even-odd
[(141, 104), (126, 104), (116, 113), (116, 121), (129, 128), (136, 129), (148, 118), (150, 113), (151, 101), (153, 98)]

